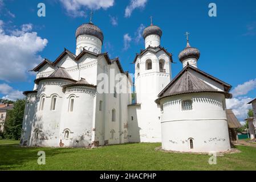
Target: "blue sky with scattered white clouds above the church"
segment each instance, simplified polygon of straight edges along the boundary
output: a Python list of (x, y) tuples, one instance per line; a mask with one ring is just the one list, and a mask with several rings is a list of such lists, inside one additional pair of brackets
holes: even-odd
[[(37, 16), (40, 2), (46, 5), (46, 17)], [(217, 17), (208, 15), (211, 2), (217, 5)], [(135, 53), (144, 48), (138, 32), (149, 26), (149, 16), (163, 31), (161, 46), (173, 53), (172, 77), (182, 69), (178, 53), (186, 45), (185, 32), (190, 32), (190, 45), (201, 51), (198, 68), (233, 85), (235, 97), (228, 105), (239, 119), (246, 116), (246, 102), (256, 97), (253, 0), (0, 0), (0, 97), (15, 99), (31, 90), (35, 75), (27, 71), (43, 57), (54, 61), (64, 47), (75, 53), (75, 30), (89, 21), (90, 9), (104, 33), (103, 51), (119, 57), (131, 73)], [(131, 41), (125, 42), (125, 34)]]

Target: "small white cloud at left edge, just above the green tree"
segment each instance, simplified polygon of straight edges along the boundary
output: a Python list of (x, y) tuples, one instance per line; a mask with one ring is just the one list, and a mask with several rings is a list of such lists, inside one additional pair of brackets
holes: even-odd
[(7, 84), (0, 84), (0, 93), (5, 95), (2, 97), (3, 99), (12, 101), (25, 97), (21, 91), (15, 90)]

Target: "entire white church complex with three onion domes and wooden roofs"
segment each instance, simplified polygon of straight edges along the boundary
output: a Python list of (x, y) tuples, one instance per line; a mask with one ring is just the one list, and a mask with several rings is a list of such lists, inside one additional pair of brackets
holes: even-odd
[[(164, 150), (230, 150), (226, 98), (231, 86), (197, 68), (200, 51), (181, 51), (183, 69), (172, 79), (172, 54), (162, 31), (145, 28), (135, 76), (102, 53), (103, 32), (92, 22), (76, 30), (76, 53), (67, 49), (37, 67), (34, 89), (24, 92), (21, 145), (97, 147), (161, 142)], [(135, 94), (132, 99), (133, 90)], [(133, 101), (132, 101), (133, 100)]]

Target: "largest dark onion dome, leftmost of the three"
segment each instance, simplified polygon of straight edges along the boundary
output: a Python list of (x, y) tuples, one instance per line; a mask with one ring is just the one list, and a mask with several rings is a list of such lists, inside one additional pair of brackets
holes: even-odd
[(76, 38), (79, 35), (91, 35), (99, 38), (101, 42), (103, 42), (104, 36), (103, 32), (100, 30), (99, 27), (95, 26), (92, 23), (84, 23), (76, 30)]

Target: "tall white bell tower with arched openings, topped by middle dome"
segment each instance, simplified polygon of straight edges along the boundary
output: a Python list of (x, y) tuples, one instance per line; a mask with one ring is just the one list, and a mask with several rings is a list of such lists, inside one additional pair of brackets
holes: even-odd
[(161, 47), (162, 30), (151, 25), (145, 28), (145, 49), (135, 58), (135, 92), (139, 138), (133, 142), (161, 142), (161, 109), (156, 104), (157, 95), (169, 84), (172, 55)]

